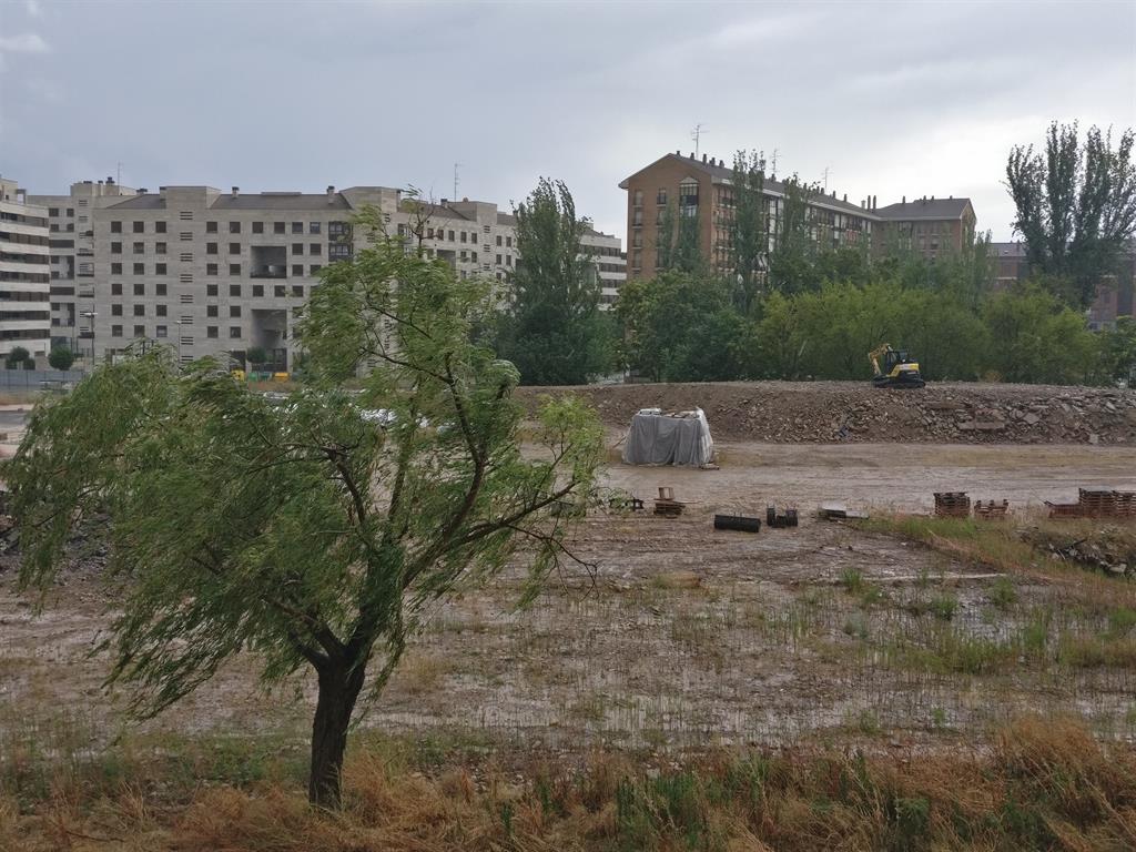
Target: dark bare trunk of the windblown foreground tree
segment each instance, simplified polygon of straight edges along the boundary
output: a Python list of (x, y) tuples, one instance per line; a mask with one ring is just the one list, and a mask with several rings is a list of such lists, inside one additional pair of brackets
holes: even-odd
[(343, 752), (348, 745), (348, 726), (366, 668), (349, 671), (333, 662), (319, 669), (319, 693), (316, 718), (311, 725), (311, 774), (308, 776), (308, 801), (321, 808), (337, 810), (341, 801)]

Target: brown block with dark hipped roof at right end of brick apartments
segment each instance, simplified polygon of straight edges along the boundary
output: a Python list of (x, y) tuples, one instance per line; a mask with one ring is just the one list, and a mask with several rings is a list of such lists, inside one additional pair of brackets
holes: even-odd
[(900, 248), (932, 259), (969, 245), (977, 224), (970, 199), (953, 195), (938, 200), (924, 195), (911, 202), (904, 195), (900, 203), (874, 208), (872, 214), (878, 218), (877, 253)]

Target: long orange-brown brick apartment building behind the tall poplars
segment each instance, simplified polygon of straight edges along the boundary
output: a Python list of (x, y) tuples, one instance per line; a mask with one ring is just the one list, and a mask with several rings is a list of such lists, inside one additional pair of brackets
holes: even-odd
[[(679, 218), (695, 218), (702, 257), (717, 272), (732, 268), (730, 226), (734, 220), (734, 170), (720, 159), (680, 151), (668, 153), (619, 183), (627, 191), (627, 252), (632, 277), (651, 277), (658, 270), (658, 248), (666, 239), (670, 210)], [(765, 181), (769, 250), (776, 245), (784, 211), (785, 183)], [(975, 215), (968, 199), (907, 203), (877, 208), (876, 198), (859, 203), (836, 192), (809, 199), (809, 222), (818, 244), (879, 248), (888, 237), (934, 258), (950, 245), (960, 247), (974, 234)]]

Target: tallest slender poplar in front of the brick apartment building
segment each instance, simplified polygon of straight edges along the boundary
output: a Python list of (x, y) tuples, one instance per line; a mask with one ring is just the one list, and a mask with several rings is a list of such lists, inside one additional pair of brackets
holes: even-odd
[(750, 315), (757, 304), (758, 286), (769, 254), (765, 156), (753, 151), (734, 154), (732, 183), (734, 209), (729, 243), (737, 279), (735, 302), (742, 314)]

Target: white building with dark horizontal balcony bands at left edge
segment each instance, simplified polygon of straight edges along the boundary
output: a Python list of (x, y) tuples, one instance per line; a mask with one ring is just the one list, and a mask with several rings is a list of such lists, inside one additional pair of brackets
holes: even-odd
[(37, 367), (51, 349), (48, 211), (0, 177), (0, 359), (26, 349)]

